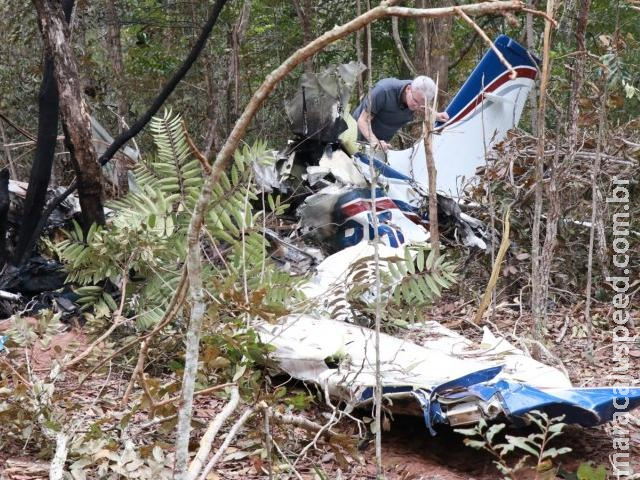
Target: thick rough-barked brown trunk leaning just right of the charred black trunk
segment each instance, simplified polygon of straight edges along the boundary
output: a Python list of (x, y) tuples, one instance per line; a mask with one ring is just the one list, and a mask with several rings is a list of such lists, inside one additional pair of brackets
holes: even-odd
[(67, 42), (68, 26), (59, 3), (33, 0), (45, 50), (54, 64), (65, 143), (71, 154), (85, 229), (104, 224), (102, 182), (91, 136), (91, 121), (83, 99), (76, 59)]

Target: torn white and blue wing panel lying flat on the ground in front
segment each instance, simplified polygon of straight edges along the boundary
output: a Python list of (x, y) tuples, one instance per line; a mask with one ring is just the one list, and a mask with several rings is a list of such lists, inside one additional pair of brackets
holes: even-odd
[[(569, 423), (593, 426), (615, 412), (640, 406), (640, 388), (621, 395), (613, 388), (574, 388), (559, 369), (526, 356), (485, 328), (476, 345), (437, 322), (417, 325), (422, 345), (381, 334), (380, 370), (385, 408), (422, 416), (437, 424), (477, 423), (506, 418), (518, 425), (532, 410), (566, 415)], [(257, 327), (272, 345), (270, 367), (315, 383), (354, 406), (372, 402), (375, 332), (308, 315), (289, 315)], [(613, 402), (618, 406), (614, 408)]]

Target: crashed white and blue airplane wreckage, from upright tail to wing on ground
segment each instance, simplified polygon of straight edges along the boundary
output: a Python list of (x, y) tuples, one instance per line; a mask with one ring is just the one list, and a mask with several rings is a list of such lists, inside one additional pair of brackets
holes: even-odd
[[(487, 248), (492, 235), (459, 201), (476, 168), (485, 165), (485, 152), (517, 126), (537, 74), (537, 59), (514, 40), (502, 35), (495, 48), (513, 66), (515, 78), (489, 50), (447, 107), (449, 120), (437, 124), (433, 135), (445, 241), (479, 249)], [(429, 240), (423, 141), (389, 151), (386, 158), (355, 142), (355, 120), (345, 106), (360, 68), (351, 63), (304, 74), (286, 105), (295, 140), (274, 164), (254, 165), (264, 191), (287, 194), (297, 207), (298, 239), (265, 234), (284, 247), (276, 261), (292, 272), (313, 272), (303, 290), (316, 300), (305, 314), (254, 325), (261, 341), (274, 349), (267, 367), (314, 383), (353, 407), (373, 402), (376, 354), (375, 332), (354, 322), (348, 309), (336, 313), (336, 305), (348, 303), (344, 292), (356, 281), (351, 266), (373, 258), (372, 242), (378, 239), (380, 269), (393, 277), (386, 260), (406, 258), (411, 246)], [(299, 246), (300, 238), (313, 238), (329, 255)], [(363, 290), (360, 298), (371, 303), (374, 287)], [(573, 387), (561, 370), (530, 358), (487, 327), (480, 345), (435, 321), (409, 328), (420, 330), (420, 345), (381, 335), (383, 402), (391, 412), (422, 417), (432, 433), (439, 424), (469, 425), (481, 418), (523, 425), (532, 410), (589, 427), (640, 406), (640, 388)]]

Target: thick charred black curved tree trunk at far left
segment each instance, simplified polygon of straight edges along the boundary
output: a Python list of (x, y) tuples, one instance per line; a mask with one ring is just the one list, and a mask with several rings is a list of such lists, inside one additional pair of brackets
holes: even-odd
[[(73, 3), (74, 0), (65, 0), (62, 5), (67, 22), (71, 18)], [(15, 265), (20, 265), (31, 255), (34, 246), (31, 239), (42, 216), (51, 180), (58, 135), (58, 88), (54, 78), (53, 63), (51, 55), (45, 53), (42, 82), (38, 95), (38, 138), (29, 175), (29, 187), (24, 201), (18, 242), (12, 259)]]

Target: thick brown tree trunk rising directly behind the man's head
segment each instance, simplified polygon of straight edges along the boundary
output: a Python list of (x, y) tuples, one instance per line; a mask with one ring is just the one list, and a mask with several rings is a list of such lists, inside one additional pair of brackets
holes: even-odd
[[(419, 8), (448, 7), (452, 0), (418, 0)], [(420, 75), (438, 78), (440, 91), (438, 108), (449, 100), (449, 47), (451, 46), (451, 17), (418, 19), (416, 25), (416, 50), (413, 64)]]

